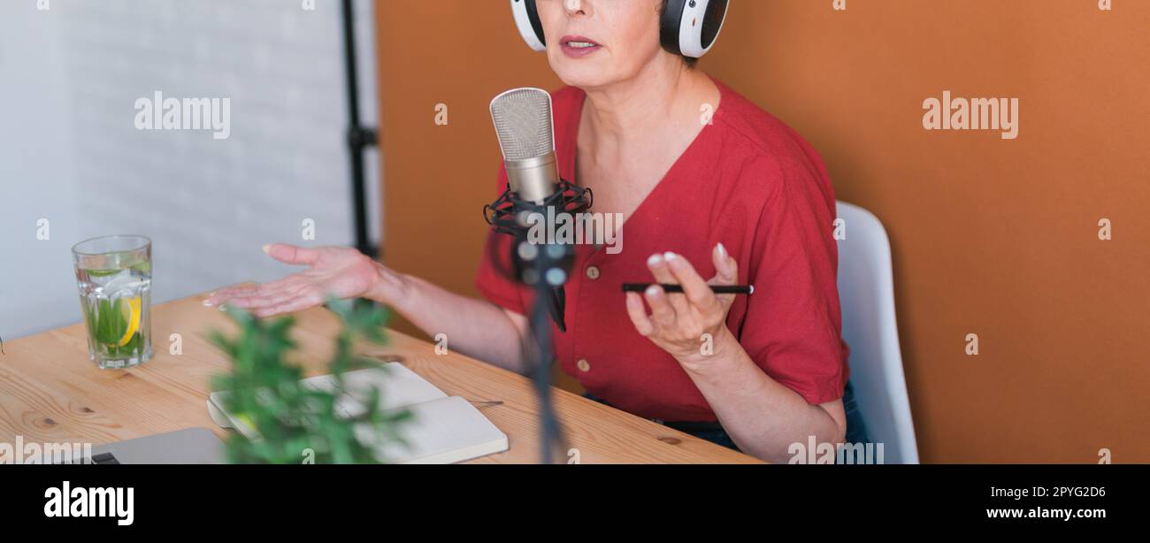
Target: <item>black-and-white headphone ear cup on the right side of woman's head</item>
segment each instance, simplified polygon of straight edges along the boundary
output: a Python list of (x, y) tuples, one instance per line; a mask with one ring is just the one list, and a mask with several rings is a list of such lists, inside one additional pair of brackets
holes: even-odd
[(667, 0), (659, 23), (662, 47), (676, 55), (699, 59), (719, 39), (729, 0)]

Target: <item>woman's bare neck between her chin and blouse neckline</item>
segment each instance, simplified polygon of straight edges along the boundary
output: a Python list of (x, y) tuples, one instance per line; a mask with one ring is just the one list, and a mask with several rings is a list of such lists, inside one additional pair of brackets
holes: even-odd
[[(704, 104), (718, 107), (719, 91), (702, 71), (678, 58), (651, 62), (635, 77), (608, 86), (586, 89), (585, 136), (601, 151), (624, 152), (643, 142), (656, 143), (668, 130), (685, 129), (691, 139), (702, 124)], [(582, 139), (582, 138), (581, 138)]]

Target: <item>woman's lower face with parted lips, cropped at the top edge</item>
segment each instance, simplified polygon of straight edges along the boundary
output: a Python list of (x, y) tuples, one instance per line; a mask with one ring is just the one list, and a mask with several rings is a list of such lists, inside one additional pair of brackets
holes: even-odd
[(629, 79), (665, 53), (664, 0), (537, 0), (547, 60), (564, 83), (591, 89)]

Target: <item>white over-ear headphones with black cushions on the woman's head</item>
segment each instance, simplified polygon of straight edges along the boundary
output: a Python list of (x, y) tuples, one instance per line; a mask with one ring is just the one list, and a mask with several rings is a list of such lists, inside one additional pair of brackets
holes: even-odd
[[(568, 0), (564, 0), (568, 1)], [(698, 59), (714, 46), (727, 18), (729, 0), (666, 0), (659, 23), (662, 48)], [(515, 25), (527, 45), (535, 51), (547, 48), (543, 23), (535, 0), (511, 0)]]

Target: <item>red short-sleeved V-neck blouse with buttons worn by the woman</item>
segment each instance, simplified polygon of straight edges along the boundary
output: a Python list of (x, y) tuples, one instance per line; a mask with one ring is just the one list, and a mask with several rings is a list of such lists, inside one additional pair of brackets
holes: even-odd
[[(835, 194), (822, 160), (789, 127), (715, 83), (722, 99), (712, 123), (628, 217), (622, 251), (577, 246), (566, 285), (567, 332), (554, 329), (562, 370), (639, 416), (716, 420), (678, 362), (627, 316), (622, 284), (653, 281), (646, 260), (654, 253), (681, 254), (712, 277), (711, 251), (722, 242), (738, 262), (739, 283), (754, 285), (727, 316), (750, 358), (811, 404), (841, 398), (849, 376), (831, 236)], [(553, 93), (559, 173), (572, 182), (584, 98), (575, 87)], [(500, 168), (499, 192), (506, 185)], [(476, 285), (492, 303), (529, 314), (531, 289), (499, 272), (509, 269), (509, 236), (489, 235)]]

